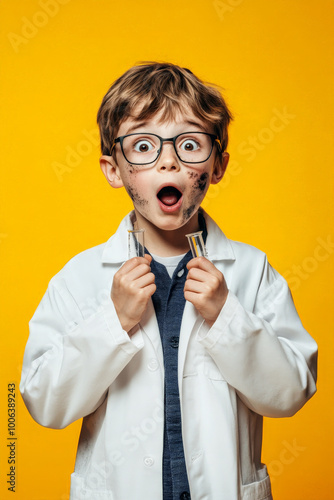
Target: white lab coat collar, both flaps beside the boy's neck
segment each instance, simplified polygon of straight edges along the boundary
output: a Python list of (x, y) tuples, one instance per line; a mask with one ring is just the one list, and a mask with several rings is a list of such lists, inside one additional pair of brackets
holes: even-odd
[[(209, 259), (213, 262), (220, 260), (235, 260), (233, 248), (225, 234), (203, 209), (200, 210), (204, 215), (208, 231), (206, 249)], [(134, 217), (134, 211), (130, 212), (122, 220), (116, 233), (106, 242), (102, 253), (103, 263), (121, 264), (127, 260), (127, 232), (133, 229)]]

